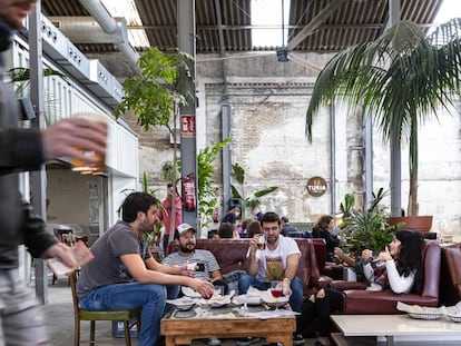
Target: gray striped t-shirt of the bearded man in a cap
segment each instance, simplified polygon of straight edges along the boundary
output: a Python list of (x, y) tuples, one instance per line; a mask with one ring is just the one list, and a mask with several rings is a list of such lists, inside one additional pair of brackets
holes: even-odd
[(189, 256), (185, 256), (180, 253), (173, 253), (165, 257), (161, 263), (164, 265), (180, 266), (188, 261), (204, 265), (205, 270), (197, 270), (194, 277), (205, 281), (212, 280), (212, 273), (220, 269), (218, 263), (216, 261), (215, 255), (213, 255), (212, 251), (202, 249), (194, 250), (194, 253), (190, 253)]

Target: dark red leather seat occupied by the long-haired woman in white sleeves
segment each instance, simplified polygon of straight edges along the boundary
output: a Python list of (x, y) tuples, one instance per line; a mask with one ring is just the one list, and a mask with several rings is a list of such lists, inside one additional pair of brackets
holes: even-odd
[[(364, 289), (344, 290), (344, 314), (400, 314), (396, 303), (403, 301), (410, 305), (421, 306), (439, 305), (439, 281), (441, 249), (435, 240), (424, 240), (422, 246), (423, 256), (423, 293), (394, 294), (391, 291), (369, 291)], [(335, 283), (333, 283), (333, 286)], [(345, 284), (345, 283), (344, 283)], [(352, 283), (359, 285), (362, 283)]]

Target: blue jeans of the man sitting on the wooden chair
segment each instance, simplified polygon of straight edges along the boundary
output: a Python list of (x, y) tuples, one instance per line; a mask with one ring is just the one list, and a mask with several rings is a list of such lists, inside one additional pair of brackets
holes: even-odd
[(115, 284), (91, 290), (80, 299), (87, 310), (122, 310), (143, 308), (139, 346), (157, 345), (160, 337), (160, 319), (166, 313), (166, 299), (177, 295), (177, 286), (156, 284)]

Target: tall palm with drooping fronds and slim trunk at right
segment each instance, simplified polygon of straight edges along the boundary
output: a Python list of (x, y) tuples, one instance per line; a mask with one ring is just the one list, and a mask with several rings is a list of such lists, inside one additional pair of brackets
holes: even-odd
[[(372, 115), (385, 141), (410, 144), (408, 212), (418, 215), (418, 129), (430, 113), (437, 117), (438, 107), (449, 109), (460, 95), (460, 79), (461, 19), (430, 36), (401, 21), (375, 41), (351, 47), (327, 62), (306, 112), (306, 137), (312, 141), (313, 118), (333, 98)], [(400, 185), (394, 189), (400, 191)]]

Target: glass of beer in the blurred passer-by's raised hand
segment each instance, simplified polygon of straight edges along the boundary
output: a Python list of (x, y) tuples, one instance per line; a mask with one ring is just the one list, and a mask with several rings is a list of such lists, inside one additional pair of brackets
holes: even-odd
[[(96, 112), (79, 112), (72, 115), (72, 117), (77, 118), (84, 118), (86, 120), (90, 121), (97, 121), (100, 123), (104, 123), (105, 126), (108, 126), (109, 121), (107, 116), (102, 113), (96, 113)], [(105, 152), (96, 152), (94, 150), (85, 150), (81, 149), (84, 155), (88, 157), (89, 159), (96, 158), (95, 162), (88, 162), (85, 160), (79, 159), (72, 159), (72, 170), (78, 171), (82, 175), (100, 175), (104, 174), (105, 166), (106, 166), (106, 154)]]

